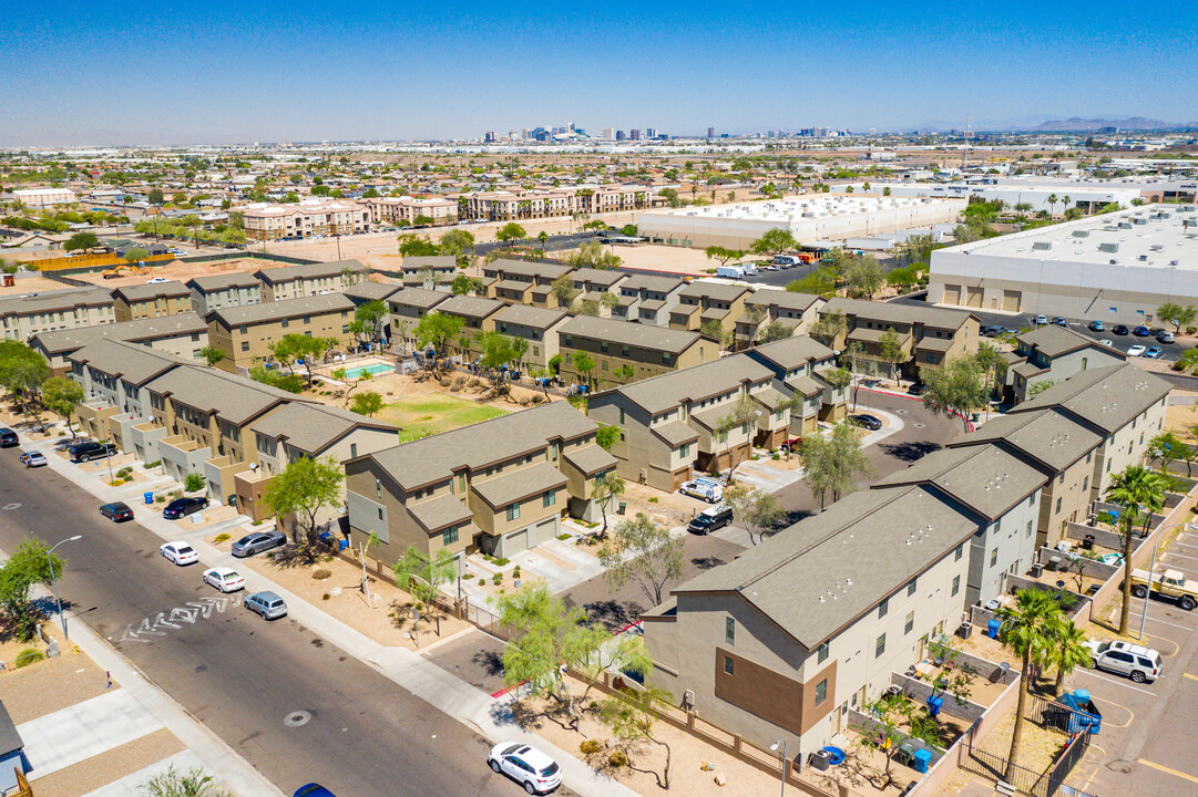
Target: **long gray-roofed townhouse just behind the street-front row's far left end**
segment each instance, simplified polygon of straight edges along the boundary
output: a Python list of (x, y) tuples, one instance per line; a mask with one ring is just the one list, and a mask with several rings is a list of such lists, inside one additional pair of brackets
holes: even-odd
[(99, 340), (140, 343), (195, 363), (202, 359), (200, 349), (208, 345), (208, 324), (194, 312), (183, 312), (162, 318), (38, 333), (29, 345), (47, 359), (55, 376), (65, 376), (71, 367), (69, 355)]

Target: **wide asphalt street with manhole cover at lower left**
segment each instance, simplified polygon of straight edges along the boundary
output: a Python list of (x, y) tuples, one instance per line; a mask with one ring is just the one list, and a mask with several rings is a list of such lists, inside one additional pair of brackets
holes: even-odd
[[(17, 456), (0, 452), (0, 547), (81, 534), (59, 549), (71, 621), (109, 639), (285, 793), (311, 780), (345, 797), (519, 793), (485, 766), (484, 738), (294, 620), (265, 622), (238, 600), (151, 641), (121, 641), (128, 623), (218, 594), (202, 566), (168, 564), (157, 536), (102, 521), (95, 498), (48, 469), (19, 468)], [(300, 711), (305, 724), (284, 724)]]

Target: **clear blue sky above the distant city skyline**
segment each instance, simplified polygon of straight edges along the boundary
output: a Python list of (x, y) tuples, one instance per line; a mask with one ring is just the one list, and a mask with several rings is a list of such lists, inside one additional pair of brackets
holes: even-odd
[(0, 145), (1198, 120), (1198, 4), (10, 4)]

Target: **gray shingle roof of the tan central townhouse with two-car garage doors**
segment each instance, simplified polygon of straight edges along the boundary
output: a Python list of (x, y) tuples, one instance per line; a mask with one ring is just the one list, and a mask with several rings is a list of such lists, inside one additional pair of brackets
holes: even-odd
[(568, 402), (494, 418), (443, 434), (426, 437), (370, 455), (405, 489), (453, 475), (458, 468), (480, 468), (545, 446), (552, 439), (593, 434), (599, 425)]

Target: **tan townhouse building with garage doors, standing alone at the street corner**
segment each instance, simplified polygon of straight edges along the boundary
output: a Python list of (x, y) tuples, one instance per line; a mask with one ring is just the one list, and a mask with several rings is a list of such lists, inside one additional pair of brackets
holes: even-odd
[(616, 466), (598, 428), (553, 402), (350, 460), (351, 543), (377, 534), (371, 555), (391, 565), (410, 547), (510, 558), (551, 540), (563, 515), (592, 516)]

